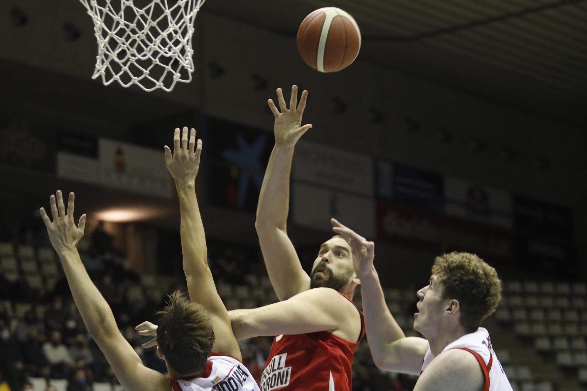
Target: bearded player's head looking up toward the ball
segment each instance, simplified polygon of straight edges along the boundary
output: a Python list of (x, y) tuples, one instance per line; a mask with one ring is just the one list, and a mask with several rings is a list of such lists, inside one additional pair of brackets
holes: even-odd
[(350, 245), (340, 237), (324, 242), (314, 261), (310, 288), (332, 288), (342, 291), (355, 276)]

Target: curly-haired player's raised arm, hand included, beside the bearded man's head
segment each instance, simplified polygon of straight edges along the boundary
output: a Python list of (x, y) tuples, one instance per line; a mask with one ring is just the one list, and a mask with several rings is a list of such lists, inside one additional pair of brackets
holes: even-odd
[(379, 369), (420, 375), (429, 343), (424, 338), (406, 337), (389, 312), (373, 266), (375, 243), (367, 241), (335, 219), (331, 223), (332, 230), (349, 241), (353, 251), (353, 265), (361, 280), (365, 332), (373, 362)]

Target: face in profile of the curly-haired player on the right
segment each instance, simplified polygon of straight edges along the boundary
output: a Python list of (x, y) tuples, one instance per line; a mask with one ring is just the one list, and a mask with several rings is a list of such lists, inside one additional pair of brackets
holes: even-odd
[(416, 295), (419, 301), (416, 304), (418, 312), (414, 314), (414, 330), (426, 336), (427, 331), (437, 331), (441, 327), (446, 306), (446, 299), (442, 298), (443, 286), (437, 275), (430, 277), (429, 284)]

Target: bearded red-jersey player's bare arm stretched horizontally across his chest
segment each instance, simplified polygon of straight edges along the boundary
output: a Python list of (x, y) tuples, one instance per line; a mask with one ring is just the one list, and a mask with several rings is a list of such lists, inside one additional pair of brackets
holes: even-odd
[(333, 289), (309, 289), (274, 304), (231, 311), (232, 332), (239, 341), (255, 336), (333, 332), (348, 318), (344, 304)]

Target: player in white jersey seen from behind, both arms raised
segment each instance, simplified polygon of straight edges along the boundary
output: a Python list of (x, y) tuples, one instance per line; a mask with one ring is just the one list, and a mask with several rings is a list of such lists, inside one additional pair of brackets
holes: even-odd
[(76, 226), (73, 193), (69, 194), (67, 213), (61, 191), (51, 195), (53, 221), (41, 208), (49, 239), (61, 259), (87, 331), (126, 391), (259, 391), (251, 373), (241, 363), (230, 317), (208, 268), (204, 227), (194, 190), (201, 146), (194, 129), (188, 143), (188, 129), (184, 127), (181, 141), (180, 130), (176, 129), (173, 155), (165, 147), (166, 167), (175, 180), (180, 200), (181, 250), (191, 300), (176, 291), (157, 313), (154, 345), (166, 363), (169, 377), (143, 365), (120, 333), (110, 306), (83, 267), (76, 247), (84, 234), (86, 215), (80, 217)]

